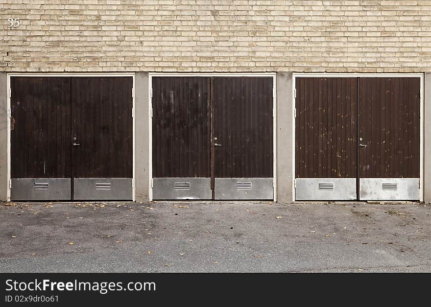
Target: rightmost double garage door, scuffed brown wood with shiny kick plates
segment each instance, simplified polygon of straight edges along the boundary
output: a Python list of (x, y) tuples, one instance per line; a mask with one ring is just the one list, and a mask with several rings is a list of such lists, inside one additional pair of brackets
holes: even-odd
[(295, 100), (297, 200), (419, 199), (419, 77), (301, 77)]

